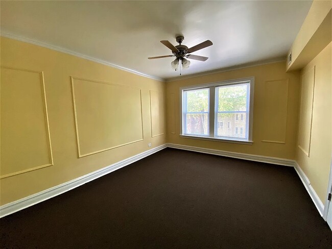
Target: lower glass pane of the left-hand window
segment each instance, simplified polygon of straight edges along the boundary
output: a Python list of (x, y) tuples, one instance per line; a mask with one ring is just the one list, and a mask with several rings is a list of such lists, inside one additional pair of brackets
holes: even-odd
[(185, 134), (208, 135), (208, 114), (186, 114)]

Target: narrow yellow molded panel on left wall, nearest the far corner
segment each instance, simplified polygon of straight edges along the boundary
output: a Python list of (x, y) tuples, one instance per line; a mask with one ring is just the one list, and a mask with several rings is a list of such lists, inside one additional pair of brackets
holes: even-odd
[(151, 136), (164, 134), (164, 104), (162, 92), (150, 91)]

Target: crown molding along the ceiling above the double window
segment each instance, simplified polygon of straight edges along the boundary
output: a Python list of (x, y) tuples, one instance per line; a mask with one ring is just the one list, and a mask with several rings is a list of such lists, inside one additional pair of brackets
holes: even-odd
[(282, 61), (286, 61), (286, 56), (277, 57), (277, 58), (264, 60), (264, 61), (256, 61), (256, 62), (252, 62), (252, 63), (241, 64), (241, 65), (236, 65), (236, 66), (231, 66), (231, 67), (226, 67), (226, 68), (220, 68), (220, 69), (216, 69), (216, 70), (212, 70), (212, 71), (205, 71), (205, 72), (189, 74), (188, 76), (178, 76), (175, 78), (165, 79), (165, 82), (186, 80), (186, 79), (207, 76), (207, 75), (221, 73), (221, 72), (240, 70), (240, 69), (244, 69), (244, 68), (248, 68), (248, 67), (263, 66), (263, 65), (268, 65), (268, 64), (282, 62)]

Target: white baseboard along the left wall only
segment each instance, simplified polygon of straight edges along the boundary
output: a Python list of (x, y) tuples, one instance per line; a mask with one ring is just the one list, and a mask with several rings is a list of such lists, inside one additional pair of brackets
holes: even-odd
[(41, 191), (39, 193), (27, 196), (25, 198), (22, 198), (20, 200), (5, 204), (0, 207), (0, 218), (4, 217), (6, 215), (15, 213), (19, 210), (28, 208), (32, 205), (35, 205), (37, 203), (46, 201), (52, 197), (55, 197), (59, 194), (62, 194), (64, 192), (67, 192), (71, 189), (77, 188), (85, 183), (88, 183), (94, 179), (100, 178), (114, 170), (120, 169), (122, 167), (125, 167), (133, 162), (136, 162), (140, 159), (143, 159), (147, 156), (150, 156), (163, 148), (166, 148), (167, 144), (160, 145), (158, 147), (152, 148), (149, 151), (145, 151), (143, 153), (137, 154), (135, 156), (129, 157), (125, 160), (122, 160), (120, 162), (114, 163), (112, 165), (106, 166), (102, 169), (96, 170), (94, 172), (88, 173), (85, 176), (79, 177), (77, 179), (74, 179), (72, 181), (60, 184), (58, 186), (46, 189), (44, 191)]

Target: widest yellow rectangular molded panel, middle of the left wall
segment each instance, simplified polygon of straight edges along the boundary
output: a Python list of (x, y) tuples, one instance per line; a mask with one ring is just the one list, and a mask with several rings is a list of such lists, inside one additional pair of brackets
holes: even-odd
[(141, 89), (70, 78), (79, 157), (144, 139)]

